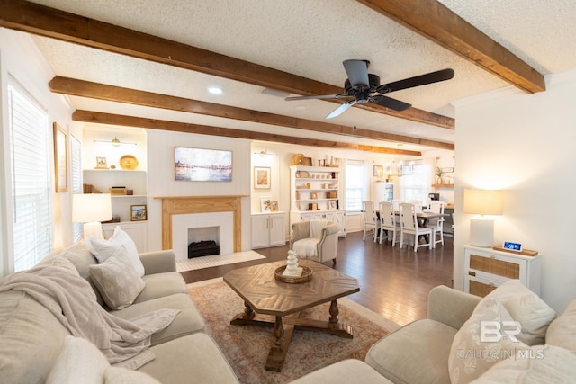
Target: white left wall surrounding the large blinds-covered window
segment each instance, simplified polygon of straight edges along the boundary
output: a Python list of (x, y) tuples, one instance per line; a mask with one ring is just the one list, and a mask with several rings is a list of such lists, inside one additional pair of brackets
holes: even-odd
[[(53, 145), (52, 145), (52, 123), (58, 122), (59, 126), (71, 132), (71, 114), (74, 111), (67, 103), (66, 99), (58, 94), (52, 94), (48, 89), (48, 82), (54, 74), (47, 66), (40, 52), (27, 34), (5, 30), (0, 28), (0, 124), (2, 125), (2, 135), (0, 136), (0, 147), (2, 147), (2, 168), (0, 178), (2, 188), (0, 191), (0, 251), (2, 252), (2, 263), (0, 263), (0, 276), (3, 276), (14, 269), (13, 261), (8, 255), (13, 254), (12, 246), (12, 201), (11, 179), (10, 179), (10, 136), (8, 126), (8, 102), (7, 86), (9, 79), (14, 79), (17, 83), (31, 94), (40, 103), (41, 107), (48, 112), (49, 126), (49, 169), (54, 169)], [(70, 156), (68, 146), (68, 169), (70, 167)], [(54, 188), (54, 174), (50, 174), (52, 191)], [(72, 242), (72, 202), (71, 193), (63, 192), (52, 194), (54, 218), (53, 245), (55, 249), (67, 246)]]

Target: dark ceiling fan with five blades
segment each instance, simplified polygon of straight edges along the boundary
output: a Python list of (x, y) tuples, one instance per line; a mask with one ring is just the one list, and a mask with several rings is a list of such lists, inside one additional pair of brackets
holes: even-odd
[(439, 81), (449, 80), (454, 77), (454, 70), (451, 68), (442, 69), (436, 72), (430, 72), (426, 75), (414, 76), (392, 83), (380, 85), (380, 76), (369, 74), (368, 60), (345, 60), (343, 63), (347, 73), (347, 80), (344, 82), (345, 94), (320, 94), (314, 96), (293, 96), (286, 97), (285, 100), (307, 100), (307, 99), (352, 99), (340, 105), (337, 109), (330, 112), (325, 119), (337, 117), (345, 112), (352, 105), (375, 103), (383, 107), (390, 108), (394, 111), (404, 111), (410, 107), (409, 103), (392, 99), (384, 96), (391, 92), (400, 91), (401, 89), (412, 88), (419, 85), (437, 83)]

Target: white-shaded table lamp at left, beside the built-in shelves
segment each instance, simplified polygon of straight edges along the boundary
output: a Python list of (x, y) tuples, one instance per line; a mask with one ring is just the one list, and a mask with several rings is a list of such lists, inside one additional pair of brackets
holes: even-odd
[(112, 219), (110, 193), (72, 195), (72, 221), (84, 223), (84, 238), (103, 238), (101, 221)]

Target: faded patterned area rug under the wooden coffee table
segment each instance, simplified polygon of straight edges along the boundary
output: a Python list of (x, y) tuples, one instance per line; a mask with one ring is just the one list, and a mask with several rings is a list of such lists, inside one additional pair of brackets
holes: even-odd
[[(364, 361), (376, 341), (399, 327), (350, 299), (338, 299), (338, 319), (353, 326), (354, 339), (296, 330), (283, 370), (266, 371), (272, 327), (230, 326), (232, 317), (244, 310), (244, 302), (221, 278), (188, 284), (188, 290), (206, 320), (208, 333), (244, 384), (285, 383), (340, 360)], [(306, 310), (302, 317), (327, 320), (329, 303)]]

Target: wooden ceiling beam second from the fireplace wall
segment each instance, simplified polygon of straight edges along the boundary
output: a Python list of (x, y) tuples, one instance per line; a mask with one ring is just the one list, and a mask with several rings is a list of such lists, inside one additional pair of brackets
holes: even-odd
[(167, 94), (155, 94), (146, 91), (123, 88), (120, 86), (103, 85), (69, 77), (54, 77), (49, 81), (49, 90), (57, 94), (81, 96), (115, 103), (129, 103), (178, 112), (197, 113), (207, 116), (239, 121), (251, 121), (294, 129), (312, 130), (335, 135), (354, 136), (356, 138), (368, 138), (387, 142), (400, 142), (448, 150), (455, 149), (454, 144), (425, 138), (412, 138), (392, 133), (378, 132), (371, 129), (354, 129), (343, 125), (330, 124), (324, 121), (299, 119), (292, 116), (247, 110), (244, 108), (185, 99), (183, 97), (170, 96)]

